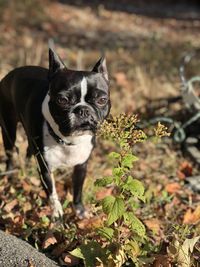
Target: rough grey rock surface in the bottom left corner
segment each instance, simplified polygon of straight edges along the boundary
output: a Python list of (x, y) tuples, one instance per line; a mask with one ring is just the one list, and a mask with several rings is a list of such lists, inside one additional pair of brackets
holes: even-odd
[(26, 241), (0, 231), (1, 267), (58, 267)]

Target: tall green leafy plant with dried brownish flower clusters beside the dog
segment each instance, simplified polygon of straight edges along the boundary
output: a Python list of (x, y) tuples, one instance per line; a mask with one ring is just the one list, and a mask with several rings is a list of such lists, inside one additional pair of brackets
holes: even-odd
[[(137, 208), (145, 202), (144, 186), (134, 179), (131, 169), (138, 158), (133, 154), (135, 143), (142, 142), (146, 135), (137, 129), (137, 116), (124, 114), (107, 120), (99, 135), (114, 141), (118, 152), (111, 152), (112, 175), (98, 179), (95, 185), (112, 185), (114, 194), (106, 196), (99, 204), (105, 214), (103, 227), (97, 229), (96, 241), (85, 241), (71, 253), (84, 260), (85, 266), (122, 266), (126, 260), (140, 266), (139, 256), (146, 252), (141, 249), (147, 242), (145, 226), (138, 218)], [(164, 135), (165, 128), (158, 125), (157, 136)]]

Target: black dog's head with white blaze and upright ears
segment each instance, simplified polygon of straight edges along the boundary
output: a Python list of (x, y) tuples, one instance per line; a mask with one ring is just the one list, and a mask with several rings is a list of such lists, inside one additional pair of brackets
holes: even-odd
[(49, 111), (64, 136), (94, 133), (110, 111), (106, 60), (92, 71), (69, 70), (49, 50)]

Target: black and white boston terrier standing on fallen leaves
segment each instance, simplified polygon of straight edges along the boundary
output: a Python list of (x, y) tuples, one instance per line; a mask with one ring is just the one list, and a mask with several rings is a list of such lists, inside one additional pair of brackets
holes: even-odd
[(54, 218), (63, 215), (53, 177), (60, 167), (73, 170), (73, 206), (77, 216), (84, 216), (82, 187), (87, 162), (97, 126), (108, 116), (110, 106), (104, 58), (92, 71), (75, 71), (49, 49), (49, 69), (19, 67), (1, 80), (0, 126), (6, 168), (13, 168), (16, 128), (21, 122), (28, 138), (27, 157), (36, 157)]

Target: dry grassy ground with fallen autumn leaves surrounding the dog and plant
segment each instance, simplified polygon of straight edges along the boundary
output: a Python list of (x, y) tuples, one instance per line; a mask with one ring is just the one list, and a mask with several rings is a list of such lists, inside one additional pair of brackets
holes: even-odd
[[(91, 69), (105, 53), (112, 115), (138, 113), (139, 118), (149, 119), (144, 112), (150, 101), (180, 94), (180, 61), (185, 54), (200, 47), (198, 12), (195, 19), (187, 16), (176, 19), (170, 15), (162, 18), (148, 12), (148, 15), (129, 12), (120, 8), (123, 4), (114, 9), (114, 4), (106, 7), (89, 4), (90, 1), (82, 5), (83, 1), (7, 2), (0, 2), (0, 78), (17, 66), (48, 67), (49, 38), (54, 39), (57, 53), (72, 69)], [(199, 60), (195, 57), (188, 69), (188, 77), (198, 75), (199, 71)], [(166, 109), (166, 114), (179, 112), (181, 116), (184, 106), (178, 104), (170, 108)], [(99, 138), (97, 141), (84, 187), (84, 202), (91, 210), (95, 209), (92, 204), (95, 199), (111, 194), (109, 188), (99, 191), (94, 181), (112, 173), (107, 156), (116, 150), (110, 142)], [(78, 229), (77, 235), (81, 236), (100, 225), (101, 218), (73, 219), (66, 204), (66, 199), (71, 198), (66, 194), (65, 173), (58, 172), (58, 194), (67, 206), (65, 219), (71, 230), (65, 233), (67, 241), (62, 233), (50, 240), (50, 245), (47, 244), (50, 209), (46, 205), (34, 159), (29, 167), (25, 167), (26, 145), (23, 130), (19, 127), (17, 146), (20, 155), (16, 155), (19, 171), (14, 178), (1, 175), (0, 179), (0, 229), (28, 240), (56, 260), (65, 261), (66, 252), (79, 244), (72, 238), (74, 224)], [(157, 255), (150, 255), (154, 256), (151, 266), (176, 266), (173, 265), (173, 255), (166, 250), (168, 237), (173, 233), (180, 240), (184, 238), (180, 233), (185, 230), (185, 238), (200, 234), (200, 195), (185, 183), (188, 176), (199, 174), (199, 168), (182, 153), (181, 146), (174, 145), (171, 140), (158, 143), (149, 140), (137, 145), (134, 153), (139, 161), (134, 165), (133, 175), (144, 183), (148, 196), (139, 216), (150, 238), (161, 248)], [(4, 162), (0, 139), (1, 172), (5, 168)], [(192, 266), (199, 266), (199, 249), (197, 247), (192, 256), (196, 260)]]

